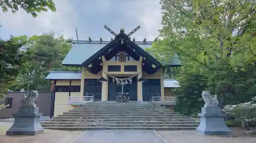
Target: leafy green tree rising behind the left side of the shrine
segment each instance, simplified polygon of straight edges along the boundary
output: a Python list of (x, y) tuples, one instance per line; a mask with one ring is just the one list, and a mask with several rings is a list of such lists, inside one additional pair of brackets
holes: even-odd
[(52, 32), (30, 37), (25, 46), (24, 59), (26, 63), (17, 77), (17, 85), (12, 90), (25, 89), (27, 91), (49, 92), (51, 82), (46, 80), (45, 77), (50, 70), (79, 70), (79, 68), (61, 65), (62, 60), (71, 48), (69, 41), (70, 39), (64, 39), (63, 35), (54, 37)]

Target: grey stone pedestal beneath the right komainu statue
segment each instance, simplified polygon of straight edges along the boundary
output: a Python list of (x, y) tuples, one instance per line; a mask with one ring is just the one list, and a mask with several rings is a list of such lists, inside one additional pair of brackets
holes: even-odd
[(220, 107), (202, 107), (200, 125), (196, 132), (202, 135), (232, 135), (232, 131), (225, 124), (225, 113)]

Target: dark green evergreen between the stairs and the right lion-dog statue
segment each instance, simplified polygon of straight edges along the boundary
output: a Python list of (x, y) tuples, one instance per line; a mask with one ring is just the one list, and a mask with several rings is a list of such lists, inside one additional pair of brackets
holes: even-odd
[[(192, 65), (191, 65), (192, 66)], [(206, 88), (207, 77), (200, 71), (189, 71), (187, 68), (180, 67), (176, 74), (181, 88), (175, 90), (177, 104), (175, 110), (185, 115), (196, 116), (203, 106), (201, 93)]]

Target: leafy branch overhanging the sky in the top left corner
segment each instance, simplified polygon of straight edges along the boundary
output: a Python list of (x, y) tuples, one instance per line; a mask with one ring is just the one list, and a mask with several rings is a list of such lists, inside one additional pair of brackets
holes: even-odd
[(20, 1), (20, 0), (0, 0), (0, 6), (3, 12), (11, 10), (15, 13), (19, 10), (19, 7), (24, 9), (27, 13), (31, 14), (33, 17), (37, 17), (37, 14), (41, 11), (51, 10), (56, 11), (55, 4), (52, 0), (34, 0), (34, 1)]

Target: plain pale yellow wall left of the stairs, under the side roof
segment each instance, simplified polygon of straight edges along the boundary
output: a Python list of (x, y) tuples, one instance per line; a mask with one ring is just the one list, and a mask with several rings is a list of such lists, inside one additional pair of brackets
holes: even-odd
[(68, 105), (69, 93), (68, 92), (56, 92), (54, 102), (54, 117), (61, 115), (63, 112), (71, 110), (72, 107)]

